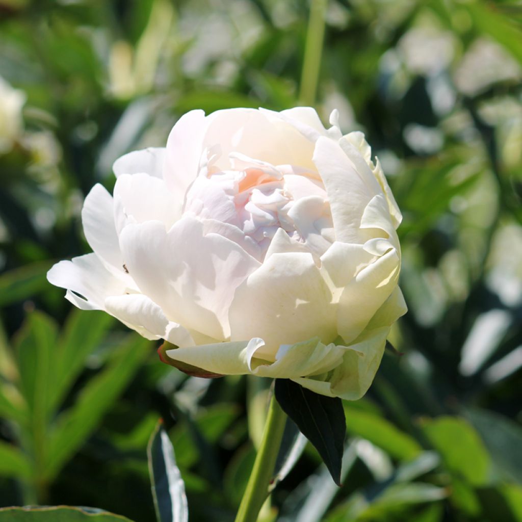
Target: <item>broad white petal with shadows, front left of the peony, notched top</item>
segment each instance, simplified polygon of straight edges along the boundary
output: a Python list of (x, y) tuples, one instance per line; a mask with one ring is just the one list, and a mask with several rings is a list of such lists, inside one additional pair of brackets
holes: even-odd
[(229, 336), (234, 291), (259, 266), (240, 246), (203, 235), (203, 224), (189, 216), (168, 232), (157, 221), (129, 224), (120, 245), (138, 288), (167, 317), (213, 339)]

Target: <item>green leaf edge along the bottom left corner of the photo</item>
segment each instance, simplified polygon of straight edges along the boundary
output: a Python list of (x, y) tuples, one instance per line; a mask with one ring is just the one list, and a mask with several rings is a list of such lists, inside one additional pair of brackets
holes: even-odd
[(38, 506), (0, 508), (0, 522), (132, 522), (91, 507)]

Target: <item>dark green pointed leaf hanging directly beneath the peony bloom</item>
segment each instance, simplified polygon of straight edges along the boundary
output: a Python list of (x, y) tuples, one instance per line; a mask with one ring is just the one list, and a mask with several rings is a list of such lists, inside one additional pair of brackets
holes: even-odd
[(341, 485), (342, 449), (346, 435), (341, 399), (318, 395), (290, 379), (276, 379), (275, 394), (283, 411), (317, 449), (334, 482)]

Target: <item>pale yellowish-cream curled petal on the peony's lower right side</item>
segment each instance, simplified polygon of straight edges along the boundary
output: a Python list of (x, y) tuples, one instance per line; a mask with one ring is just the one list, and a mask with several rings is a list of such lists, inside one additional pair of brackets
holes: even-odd
[(338, 304), (338, 332), (346, 343), (353, 341), (375, 312), (395, 290), (400, 258), (393, 248), (363, 268), (342, 291)]

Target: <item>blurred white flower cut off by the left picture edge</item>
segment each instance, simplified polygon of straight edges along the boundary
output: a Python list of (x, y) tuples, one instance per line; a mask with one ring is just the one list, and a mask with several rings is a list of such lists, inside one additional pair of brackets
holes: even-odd
[(0, 154), (11, 150), (22, 132), (22, 107), (25, 102), (25, 93), (13, 89), (0, 76)]

